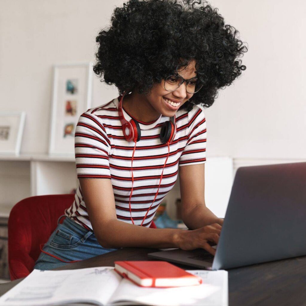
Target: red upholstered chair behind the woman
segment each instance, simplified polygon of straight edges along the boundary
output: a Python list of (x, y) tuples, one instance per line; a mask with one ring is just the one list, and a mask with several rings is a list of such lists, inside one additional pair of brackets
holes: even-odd
[[(57, 226), (58, 218), (74, 201), (74, 194), (32, 196), (18, 202), (8, 221), (8, 261), (11, 280), (33, 271), (45, 244)], [(62, 220), (63, 221), (63, 220)], [(156, 228), (154, 222), (151, 228)]]

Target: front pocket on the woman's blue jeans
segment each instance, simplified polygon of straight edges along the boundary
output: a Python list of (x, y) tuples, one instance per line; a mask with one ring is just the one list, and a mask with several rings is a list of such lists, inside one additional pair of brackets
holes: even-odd
[(88, 234), (80, 236), (79, 234), (74, 233), (72, 230), (58, 226), (55, 230), (53, 239), (50, 241), (50, 246), (59, 249), (75, 248), (80, 243), (84, 242), (87, 237)]

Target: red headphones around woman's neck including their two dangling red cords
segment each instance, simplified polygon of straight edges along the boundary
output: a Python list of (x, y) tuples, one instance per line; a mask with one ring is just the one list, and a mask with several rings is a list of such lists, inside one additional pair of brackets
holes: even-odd
[[(118, 114), (119, 114), (119, 119), (120, 119), (120, 122), (121, 122), (121, 125), (122, 125), (122, 131), (123, 131), (123, 136), (124, 136), (125, 140), (135, 142), (135, 146), (134, 146), (134, 150), (133, 150), (133, 154), (132, 154), (132, 164), (131, 164), (131, 167), (132, 167), (132, 190), (131, 190), (130, 198), (129, 198), (130, 215), (131, 215), (132, 224), (134, 224), (134, 220), (132, 218), (132, 211), (131, 211), (131, 197), (132, 197), (133, 183), (134, 183), (133, 159), (134, 159), (134, 153), (135, 153), (135, 149), (136, 149), (136, 142), (140, 140), (141, 130), (140, 130), (139, 123), (135, 119), (131, 119), (130, 121), (127, 121), (124, 118), (123, 111), (122, 111), (122, 99), (123, 99), (125, 94), (126, 94), (126, 91), (123, 93), (123, 95), (121, 96), (121, 99), (119, 101)], [(166, 161), (164, 163), (164, 166), (162, 168), (162, 174), (164, 172), (164, 168), (166, 166), (166, 162), (168, 160), (169, 153), (170, 153), (169, 144), (171, 144), (172, 141), (174, 140), (175, 133), (176, 133), (176, 124), (175, 124), (175, 115), (174, 115), (173, 117), (170, 118), (170, 121), (166, 121), (166, 122), (163, 123), (162, 128), (160, 130), (160, 134), (159, 134), (159, 138), (160, 138), (161, 142), (163, 144), (168, 145), (168, 156), (167, 156)], [(159, 180), (159, 186), (160, 186), (161, 181), (162, 181), (162, 175), (161, 175), (160, 180)], [(149, 209), (147, 210), (140, 226), (143, 225), (144, 220), (146, 219), (147, 214), (150, 211), (150, 209), (151, 209), (151, 207), (152, 207), (152, 205), (153, 205), (153, 203), (156, 199), (156, 196), (158, 195), (159, 186), (158, 186), (157, 192), (155, 194), (154, 200), (153, 200), (151, 206), (149, 207)]]

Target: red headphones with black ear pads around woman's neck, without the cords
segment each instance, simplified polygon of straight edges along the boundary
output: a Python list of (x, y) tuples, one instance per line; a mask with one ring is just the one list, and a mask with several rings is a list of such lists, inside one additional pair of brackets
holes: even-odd
[[(123, 136), (127, 141), (137, 142), (140, 140), (141, 130), (139, 123), (131, 119), (130, 121), (125, 120), (122, 111), (122, 100), (127, 91), (121, 96), (120, 102), (118, 104), (118, 114), (122, 125)], [(170, 121), (166, 121), (162, 125), (160, 130), (159, 138), (163, 144), (172, 143), (176, 133), (175, 115), (170, 118)]]

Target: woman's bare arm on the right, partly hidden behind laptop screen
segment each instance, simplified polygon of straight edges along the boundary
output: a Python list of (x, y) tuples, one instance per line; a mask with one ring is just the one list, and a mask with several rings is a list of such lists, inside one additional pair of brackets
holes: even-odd
[(204, 173), (204, 163), (179, 168), (182, 219), (192, 230), (211, 224), (223, 224), (223, 219), (218, 218), (205, 206)]

